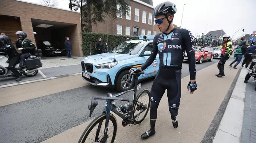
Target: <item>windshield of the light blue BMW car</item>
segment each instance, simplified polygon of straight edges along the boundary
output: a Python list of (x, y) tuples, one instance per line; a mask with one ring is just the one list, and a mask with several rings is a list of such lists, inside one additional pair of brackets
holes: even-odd
[(126, 41), (113, 49), (111, 53), (135, 55), (139, 52), (144, 43), (144, 41)]

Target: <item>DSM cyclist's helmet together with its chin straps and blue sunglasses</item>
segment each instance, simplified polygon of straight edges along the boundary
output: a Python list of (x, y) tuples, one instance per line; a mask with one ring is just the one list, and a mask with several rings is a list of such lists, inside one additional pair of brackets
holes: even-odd
[[(166, 2), (163, 2), (159, 5), (156, 6), (156, 8), (154, 9), (154, 12), (153, 12), (153, 17), (156, 18), (157, 16), (159, 15), (165, 15), (165, 18), (167, 19), (168, 23), (169, 23), (169, 26), (167, 27), (167, 29), (165, 31), (167, 31), (172, 23), (172, 20), (170, 21), (168, 19), (168, 16), (172, 15), (174, 13), (177, 12), (177, 8), (176, 8), (176, 5), (170, 1), (166, 1)], [(155, 20), (155, 23), (156, 24), (161, 24), (163, 21), (163, 18), (161, 19), (156, 19)]]

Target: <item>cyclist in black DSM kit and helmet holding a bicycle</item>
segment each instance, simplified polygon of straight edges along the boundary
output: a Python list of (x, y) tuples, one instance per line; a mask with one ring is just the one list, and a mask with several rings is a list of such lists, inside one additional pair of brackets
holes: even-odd
[(153, 63), (157, 53), (159, 54), (160, 67), (150, 91), (150, 130), (141, 135), (143, 139), (147, 139), (149, 136), (155, 134), (157, 108), (165, 93), (165, 89), (167, 89), (169, 111), (171, 113), (173, 127), (178, 127), (176, 116), (178, 115), (180, 105), (181, 66), (185, 51), (189, 59), (190, 72), (190, 81), (187, 88), (191, 94), (197, 89), (195, 82), (196, 62), (193, 36), (189, 29), (174, 28), (172, 21), (176, 11), (176, 5), (170, 1), (156, 6), (153, 17), (156, 18), (155, 23), (161, 33), (154, 37), (153, 50), (146, 63), (140, 69), (134, 71), (140, 72), (145, 70)]

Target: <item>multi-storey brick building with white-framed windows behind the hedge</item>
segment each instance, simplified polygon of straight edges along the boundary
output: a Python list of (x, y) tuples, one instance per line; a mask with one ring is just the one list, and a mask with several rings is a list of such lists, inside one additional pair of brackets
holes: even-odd
[[(117, 20), (106, 16), (105, 23), (97, 23), (92, 26), (93, 32), (107, 33), (114, 35), (150, 35), (153, 34), (153, 11), (152, 0), (128, 0), (130, 5), (130, 15), (117, 13)], [(149, 4), (148, 4), (149, 3)], [(120, 6), (117, 5), (117, 8)]]

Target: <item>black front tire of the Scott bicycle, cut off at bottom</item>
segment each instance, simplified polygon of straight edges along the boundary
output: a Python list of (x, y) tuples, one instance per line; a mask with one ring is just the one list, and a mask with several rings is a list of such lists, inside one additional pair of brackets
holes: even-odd
[[(92, 122), (85, 128), (85, 130), (82, 133), (78, 143), (87, 143), (88, 141), (91, 142), (92, 139), (91, 140), (86, 140), (88, 135), (89, 135), (89, 133), (91, 132), (92, 129), (96, 128), (96, 125), (99, 122), (101, 122), (101, 121), (103, 122), (105, 119), (106, 119), (106, 114), (101, 114), (100, 116), (97, 116), (95, 119), (93, 119)], [(116, 132), (117, 132), (117, 120), (116, 120), (116, 118), (115, 118), (115, 116), (113, 114), (110, 114), (109, 121), (112, 121), (113, 128), (114, 128), (112, 139), (111, 139), (110, 143), (114, 143)], [(105, 127), (105, 122), (103, 122), (102, 125)], [(103, 129), (104, 129), (104, 127), (103, 127)], [(109, 129), (110, 128), (111, 128), (111, 126), (110, 126), (110, 122), (109, 122)], [(104, 130), (103, 130), (103, 133), (104, 133)], [(87, 141), (87, 142), (85, 142), (85, 141)]]

